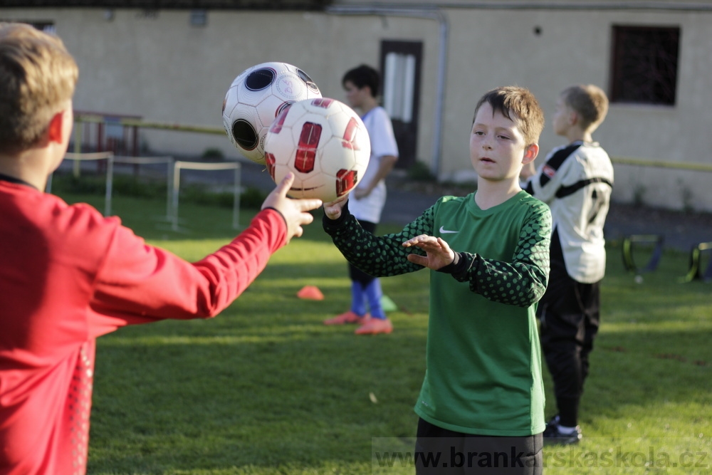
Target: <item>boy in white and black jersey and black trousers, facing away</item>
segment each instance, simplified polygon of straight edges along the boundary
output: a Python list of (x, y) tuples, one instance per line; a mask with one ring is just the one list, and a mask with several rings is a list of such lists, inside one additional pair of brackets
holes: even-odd
[(549, 205), (553, 219), (549, 285), (537, 311), (558, 409), (544, 432), (546, 443), (581, 439), (578, 409), (599, 326), (603, 226), (613, 187), (611, 160), (592, 132), (607, 110), (608, 99), (595, 85), (563, 90), (553, 127), (569, 143), (552, 150), (539, 169), (522, 173), (523, 188)]

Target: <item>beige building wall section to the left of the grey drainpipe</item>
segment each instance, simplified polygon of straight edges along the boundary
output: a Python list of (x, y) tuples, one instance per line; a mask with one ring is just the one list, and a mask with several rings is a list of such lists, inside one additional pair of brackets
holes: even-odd
[[(52, 21), (80, 66), (75, 110), (138, 115), (152, 122), (222, 127), (221, 105), (232, 80), (266, 61), (306, 71), (325, 97), (345, 100), (343, 73), (360, 63), (379, 66), (383, 39), (438, 37), (436, 22), (310, 12), (209, 11), (204, 27), (189, 11), (0, 9), (0, 19)], [(424, 88), (435, 83), (437, 42), (424, 41)], [(419, 150), (432, 140), (434, 95), (422, 95)], [(224, 135), (143, 129), (142, 147), (174, 154), (220, 148), (239, 156)], [(426, 157), (428, 158), (428, 157)]]

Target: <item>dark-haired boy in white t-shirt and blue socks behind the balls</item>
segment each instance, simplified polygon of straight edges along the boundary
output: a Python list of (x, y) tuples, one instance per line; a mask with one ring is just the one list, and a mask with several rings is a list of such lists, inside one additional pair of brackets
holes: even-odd
[[(359, 110), (371, 140), (371, 157), (363, 177), (350, 194), (351, 214), (368, 231), (374, 232), (386, 203), (385, 177), (398, 160), (398, 145), (388, 113), (378, 105), (380, 75), (374, 68), (361, 65), (347, 71), (341, 80), (352, 108)], [(325, 320), (325, 325), (356, 323), (357, 335), (391, 333), (393, 325), (381, 306), (379, 280), (349, 264), (351, 308)], [(367, 307), (368, 304), (368, 307)], [(370, 313), (367, 312), (370, 310)]]

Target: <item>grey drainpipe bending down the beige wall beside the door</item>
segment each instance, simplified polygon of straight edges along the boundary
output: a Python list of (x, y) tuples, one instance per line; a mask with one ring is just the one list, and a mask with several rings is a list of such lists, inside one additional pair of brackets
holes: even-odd
[(430, 19), (438, 22), (440, 26), (440, 45), (438, 51), (438, 79), (436, 85), (435, 115), (433, 118), (433, 145), (430, 162), (430, 172), (439, 177), (440, 155), (442, 148), (442, 127), (443, 111), (445, 107), (445, 72), (447, 68), (447, 48), (450, 26), (445, 14), (436, 8), (409, 7), (399, 8), (397, 6), (357, 6), (357, 5), (333, 5), (329, 6), (325, 12), (332, 15), (378, 15), (378, 16), (405, 16), (409, 18)]

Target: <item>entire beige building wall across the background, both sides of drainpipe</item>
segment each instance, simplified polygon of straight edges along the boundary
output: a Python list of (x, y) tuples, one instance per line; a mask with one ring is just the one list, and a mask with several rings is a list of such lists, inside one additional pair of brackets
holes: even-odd
[[(496, 2), (495, 9), (485, 8), (492, 2), (428, 2), (439, 4), (438, 10), (412, 1), (390, 1), (388, 9), (372, 2), (338, 3), (352, 10), (367, 3), (370, 10), (209, 11), (203, 27), (191, 26), (190, 12), (183, 10), (147, 14), (117, 9), (108, 21), (103, 9), (0, 9), (0, 19), (56, 24), (80, 65), (77, 110), (209, 127), (221, 127), (224, 93), (249, 66), (295, 64), (312, 76), (323, 95), (343, 100), (342, 73), (359, 63), (378, 66), (382, 40), (422, 41), (417, 157), (436, 167), (441, 180), (473, 179), (468, 134), (473, 107), (486, 90), (526, 86), (550, 122), (557, 95), (567, 85), (595, 83), (607, 90), (613, 25), (679, 26), (676, 105), (612, 104), (594, 137), (612, 157), (712, 163), (712, 9), (704, 10), (712, 1), (693, 4), (700, 8), (691, 11), (619, 9), (614, 1), (567, 2), (585, 9), (544, 8), (551, 5), (545, 1)], [(444, 102), (439, 108), (444, 31)], [(436, 142), (439, 111), (442, 134)], [(199, 155), (217, 147), (228, 156), (239, 155), (224, 135), (142, 130), (140, 138), (156, 152)], [(561, 137), (545, 127), (539, 160), (560, 144)], [(614, 199), (712, 211), (710, 179), (711, 172), (617, 165)]]

